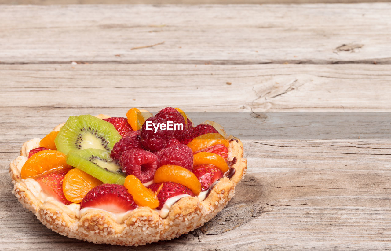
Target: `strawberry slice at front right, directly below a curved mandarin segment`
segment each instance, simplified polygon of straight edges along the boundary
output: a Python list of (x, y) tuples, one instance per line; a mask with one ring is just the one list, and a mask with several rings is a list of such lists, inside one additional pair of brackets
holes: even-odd
[[(149, 185), (148, 188), (152, 191), (156, 192), (160, 188), (161, 183), (155, 183), (152, 185)], [(163, 182), (163, 187), (161, 188), (160, 192), (158, 193), (158, 200), (160, 202), (159, 206), (156, 209), (163, 208), (164, 203), (167, 199), (174, 197), (176, 195), (181, 194), (188, 194), (190, 196), (194, 196), (194, 193), (188, 189), (187, 187), (183, 186), (182, 184), (178, 184), (175, 182)]]

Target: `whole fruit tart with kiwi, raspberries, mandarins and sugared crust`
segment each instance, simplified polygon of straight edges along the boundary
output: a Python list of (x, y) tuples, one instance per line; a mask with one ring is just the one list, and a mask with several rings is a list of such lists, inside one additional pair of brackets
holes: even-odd
[(53, 231), (94, 243), (170, 240), (212, 219), (246, 172), (243, 146), (179, 108), (71, 116), (11, 162), (13, 193)]

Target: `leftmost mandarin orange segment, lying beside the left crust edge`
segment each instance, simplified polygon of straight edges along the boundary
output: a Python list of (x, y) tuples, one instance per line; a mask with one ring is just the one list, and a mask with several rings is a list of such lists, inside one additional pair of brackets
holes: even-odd
[(37, 178), (43, 173), (64, 168), (72, 168), (66, 164), (66, 155), (55, 150), (37, 152), (27, 159), (22, 167), (20, 176), (22, 179)]

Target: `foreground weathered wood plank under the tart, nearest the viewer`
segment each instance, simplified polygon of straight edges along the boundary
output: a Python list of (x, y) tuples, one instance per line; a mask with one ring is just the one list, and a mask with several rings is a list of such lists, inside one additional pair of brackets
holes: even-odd
[[(390, 247), (390, 141), (246, 141), (244, 146), (248, 173), (224, 211), (228, 219), (232, 212), (235, 222), (244, 220), (243, 225), (215, 235), (213, 231), (224, 229), (213, 223), (216, 218), (179, 239), (138, 250)], [(18, 151), (16, 146), (11, 149)], [(8, 159), (16, 154), (2, 155), (1, 196), (7, 202), (0, 211), (4, 247), (105, 249), (106, 245), (61, 237), (22, 209), (11, 194), (6, 171)], [(259, 210), (251, 217), (235, 215), (238, 207), (251, 210), (254, 206)]]

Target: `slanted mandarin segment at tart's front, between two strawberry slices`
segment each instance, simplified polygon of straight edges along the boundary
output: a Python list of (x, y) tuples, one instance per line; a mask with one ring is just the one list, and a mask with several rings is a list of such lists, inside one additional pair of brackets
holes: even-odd
[(128, 193), (133, 196), (138, 206), (148, 206), (152, 209), (159, 206), (160, 202), (156, 194), (149, 188), (146, 188), (135, 175), (127, 175), (124, 186)]

